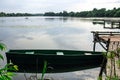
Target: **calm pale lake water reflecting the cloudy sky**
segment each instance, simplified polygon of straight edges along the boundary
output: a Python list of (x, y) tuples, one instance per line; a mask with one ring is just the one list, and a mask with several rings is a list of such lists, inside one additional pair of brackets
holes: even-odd
[[(103, 25), (100, 24), (94, 25), (92, 23), (93, 19), (94, 18), (42, 16), (28, 17), (28, 19), (26, 19), (26, 17), (0, 17), (0, 41), (5, 43), (8, 49), (67, 49), (91, 51), (93, 49), (93, 34), (91, 31), (119, 31), (118, 29), (103, 29)], [(100, 45), (97, 46), (96, 50), (103, 51)], [(94, 72), (95, 70), (97, 70), (97, 72)], [(80, 74), (84, 72), (96, 74), (98, 71), (98, 69), (93, 69), (90, 71), (63, 73), (60, 74), (61, 76), (59, 74), (59, 76), (55, 76), (60, 77), (59, 80), (70, 80), (71, 78), (71, 80), (92, 80), (85, 78), (80, 79)], [(90, 76), (91, 73), (87, 75), (84, 73), (81, 77)], [(66, 78), (64, 74), (69, 77)], [(75, 76), (70, 77), (71, 75)], [(76, 78), (76, 76), (79, 77)], [(96, 78), (94, 75), (92, 76)]]

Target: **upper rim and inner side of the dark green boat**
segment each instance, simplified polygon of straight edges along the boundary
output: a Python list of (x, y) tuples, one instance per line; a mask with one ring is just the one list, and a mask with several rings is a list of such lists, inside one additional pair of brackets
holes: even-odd
[[(26, 54), (27, 52), (27, 54)], [(29, 54), (29, 52), (33, 52)], [(47, 53), (46, 53), (47, 52)], [(57, 52), (62, 52), (63, 55), (57, 55)], [(88, 55), (86, 55), (88, 53)], [(90, 53), (90, 55), (89, 55)], [(11, 49), (6, 54), (20, 55), (43, 55), (43, 56), (95, 56), (102, 55), (103, 52), (80, 51), (80, 50), (49, 50), (49, 49)]]

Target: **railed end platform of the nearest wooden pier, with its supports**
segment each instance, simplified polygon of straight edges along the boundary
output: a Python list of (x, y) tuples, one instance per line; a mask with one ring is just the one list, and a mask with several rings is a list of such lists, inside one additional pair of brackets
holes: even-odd
[[(112, 44), (116, 44), (116, 48), (120, 45), (120, 32), (98, 32), (93, 33), (93, 50), (95, 51), (96, 43), (99, 43), (106, 51), (110, 50)], [(104, 45), (105, 44), (105, 45)]]

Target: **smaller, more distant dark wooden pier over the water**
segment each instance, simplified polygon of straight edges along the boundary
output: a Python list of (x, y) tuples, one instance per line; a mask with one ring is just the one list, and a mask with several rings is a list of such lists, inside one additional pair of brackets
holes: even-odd
[(120, 20), (95, 19), (93, 24), (102, 24), (105, 29), (120, 29)]

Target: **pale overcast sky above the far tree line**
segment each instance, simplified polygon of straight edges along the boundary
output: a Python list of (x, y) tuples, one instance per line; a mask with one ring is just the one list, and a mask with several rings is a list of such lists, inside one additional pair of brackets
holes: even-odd
[(6, 13), (80, 12), (119, 6), (120, 0), (0, 0), (0, 12)]

